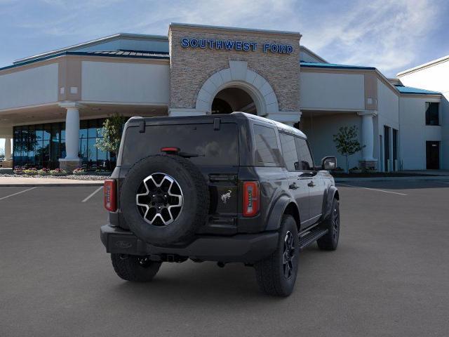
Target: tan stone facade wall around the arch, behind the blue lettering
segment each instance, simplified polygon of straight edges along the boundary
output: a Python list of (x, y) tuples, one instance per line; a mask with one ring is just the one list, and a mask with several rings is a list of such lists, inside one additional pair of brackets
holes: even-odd
[[(246, 61), (272, 86), (279, 111), (299, 112), (300, 104), (300, 37), (299, 33), (264, 32), (189, 25), (170, 25), (170, 108), (194, 109), (204, 82), (220, 70), (229, 68), (229, 61)], [(217, 39), (253, 41), (255, 51), (185, 48), (181, 39)], [(291, 53), (264, 52), (263, 44), (293, 46)]]

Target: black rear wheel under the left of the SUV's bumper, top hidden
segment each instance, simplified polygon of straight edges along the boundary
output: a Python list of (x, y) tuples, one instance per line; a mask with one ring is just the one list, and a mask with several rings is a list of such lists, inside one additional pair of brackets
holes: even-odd
[(160, 262), (151, 261), (145, 256), (111, 254), (111, 260), (116, 274), (133, 282), (151, 281), (161, 267)]

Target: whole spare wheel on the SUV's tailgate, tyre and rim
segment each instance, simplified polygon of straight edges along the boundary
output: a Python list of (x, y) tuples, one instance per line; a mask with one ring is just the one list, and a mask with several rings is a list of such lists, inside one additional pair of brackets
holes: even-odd
[(150, 156), (128, 171), (120, 209), (130, 230), (145, 242), (186, 243), (206, 221), (208, 185), (192, 161), (170, 154)]

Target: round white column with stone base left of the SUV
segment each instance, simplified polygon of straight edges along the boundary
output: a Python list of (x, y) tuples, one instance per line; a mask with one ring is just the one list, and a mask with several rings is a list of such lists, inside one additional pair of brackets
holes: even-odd
[(79, 159), (79, 109), (81, 105), (76, 102), (60, 103), (67, 112), (65, 115), (65, 158), (59, 159), (60, 169), (72, 172), (81, 165)]

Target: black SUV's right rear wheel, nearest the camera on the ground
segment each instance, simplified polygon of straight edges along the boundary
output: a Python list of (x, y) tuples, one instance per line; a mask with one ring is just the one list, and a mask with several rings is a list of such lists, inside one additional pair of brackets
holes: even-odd
[(298, 267), (297, 225), (293, 216), (283, 216), (278, 248), (268, 258), (255, 263), (257, 284), (264, 293), (289, 296), (295, 286)]

